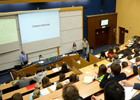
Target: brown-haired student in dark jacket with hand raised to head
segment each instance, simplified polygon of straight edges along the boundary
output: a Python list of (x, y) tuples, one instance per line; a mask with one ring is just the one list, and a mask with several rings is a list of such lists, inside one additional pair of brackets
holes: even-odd
[[(118, 64), (116, 62), (112, 63), (110, 68), (107, 70), (104, 78), (102, 79), (102, 81), (100, 83), (100, 87), (104, 88), (106, 83), (108, 83), (111, 80), (114, 80), (114, 81), (118, 82), (118, 81), (127, 79), (126, 74), (125, 73), (120, 73), (120, 72), (121, 72), (120, 64)], [(114, 77), (108, 78), (108, 75), (110, 75), (110, 73), (112, 73), (114, 75)]]

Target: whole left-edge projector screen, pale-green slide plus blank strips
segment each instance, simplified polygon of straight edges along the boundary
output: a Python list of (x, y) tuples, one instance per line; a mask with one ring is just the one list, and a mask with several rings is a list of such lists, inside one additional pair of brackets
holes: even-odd
[(0, 17), (0, 54), (19, 49), (16, 17)]

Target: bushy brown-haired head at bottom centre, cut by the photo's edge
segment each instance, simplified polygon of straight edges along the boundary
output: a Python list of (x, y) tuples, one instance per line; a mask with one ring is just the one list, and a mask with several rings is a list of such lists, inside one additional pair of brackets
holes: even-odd
[(64, 100), (78, 100), (79, 91), (74, 85), (65, 85), (62, 91), (62, 97)]

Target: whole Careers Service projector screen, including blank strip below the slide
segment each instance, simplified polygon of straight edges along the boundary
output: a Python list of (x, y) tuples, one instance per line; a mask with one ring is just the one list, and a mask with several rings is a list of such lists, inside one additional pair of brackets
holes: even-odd
[(22, 47), (27, 53), (61, 45), (58, 10), (19, 14), (18, 18)]

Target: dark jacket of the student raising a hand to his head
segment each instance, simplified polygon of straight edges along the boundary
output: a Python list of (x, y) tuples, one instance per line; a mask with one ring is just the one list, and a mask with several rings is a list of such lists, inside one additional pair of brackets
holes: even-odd
[(121, 80), (124, 80), (124, 79), (127, 79), (126, 77), (126, 74), (125, 73), (121, 73), (120, 75), (117, 75), (117, 76), (114, 76), (114, 77), (111, 77), (111, 78), (108, 78), (110, 74), (109, 73), (106, 73), (104, 78), (102, 79), (101, 83), (100, 83), (100, 87), (101, 88), (104, 88), (104, 86), (106, 85), (107, 82), (111, 81), (111, 80), (114, 80), (114, 81), (121, 81)]

